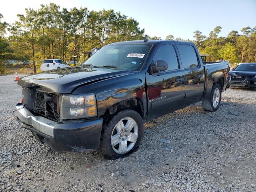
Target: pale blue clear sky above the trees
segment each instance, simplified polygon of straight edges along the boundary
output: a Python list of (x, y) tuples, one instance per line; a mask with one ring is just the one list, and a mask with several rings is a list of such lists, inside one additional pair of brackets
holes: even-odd
[(25, 8), (40, 8), (40, 4), (53, 2), (62, 8), (87, 7), (99, 11), (113, 9), (139, 22), (145, 34), (165, 39), (193, 40), (193, 32), (200, 30), (208, 36), (216, 26), (221, 26), (220, 36), (244, 27), (256, 26), (256, 0), (3, 0), (0, 3), (1, 21), (14, 23), (17, 14)]

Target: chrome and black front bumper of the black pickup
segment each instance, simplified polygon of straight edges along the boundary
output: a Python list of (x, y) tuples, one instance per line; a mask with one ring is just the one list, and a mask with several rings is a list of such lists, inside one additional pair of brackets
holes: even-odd
[(96, 150), (100, 145), (102, 118), (55, 122), (35, 116), (22, 104), (16, 106), (18, 123), (36, 138), (58, 152)]

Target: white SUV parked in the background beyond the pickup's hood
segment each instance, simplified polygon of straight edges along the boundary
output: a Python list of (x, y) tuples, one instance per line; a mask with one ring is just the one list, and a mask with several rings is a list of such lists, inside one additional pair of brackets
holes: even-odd
[(48, 71), (48, 70), (65, 68), (65, 67), (70, 67), (70, 66), (60, 59), (46, 59), (46, 60), (43, 60), (41, 64), (41, 71)]

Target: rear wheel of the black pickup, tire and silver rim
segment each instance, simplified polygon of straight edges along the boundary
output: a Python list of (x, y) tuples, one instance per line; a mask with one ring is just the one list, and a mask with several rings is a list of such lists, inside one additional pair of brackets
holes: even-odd
[[(221, 92), (222, 92), (222, 89), (220, 87), (220, 84), (214, 84), (212, 87), (210, 97), (202, 100), (203, 108), (207, 111), (218, 110), (220, 106), (220, 101), (221, 101)], [(216, 98), (218, 99), (218, 104), (216, 104)]]

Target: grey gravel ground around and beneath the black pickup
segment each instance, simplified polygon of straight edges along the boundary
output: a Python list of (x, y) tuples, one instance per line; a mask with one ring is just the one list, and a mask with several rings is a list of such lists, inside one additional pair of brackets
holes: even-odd
[(256, 191), (256, 90), (228, 89), (217, 112), (198, 103), (147, 123), (140, 149), (109, 161), (38, 143), (12, 112), (13, 80), (0, 76), (0, 192)]

